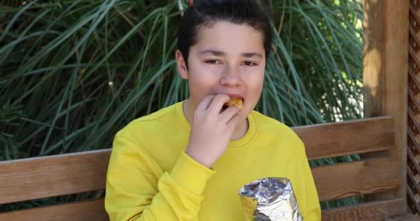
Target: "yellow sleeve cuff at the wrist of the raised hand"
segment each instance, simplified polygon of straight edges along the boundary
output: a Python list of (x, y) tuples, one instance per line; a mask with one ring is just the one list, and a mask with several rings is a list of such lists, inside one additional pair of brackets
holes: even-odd
[(182, 152), (171, 171), (171, 177), (182, 188), (191, 191), (196, 195), (202, 195), (207, 180), (215, 171), (203, 166), (191, 158), (187, 153)]

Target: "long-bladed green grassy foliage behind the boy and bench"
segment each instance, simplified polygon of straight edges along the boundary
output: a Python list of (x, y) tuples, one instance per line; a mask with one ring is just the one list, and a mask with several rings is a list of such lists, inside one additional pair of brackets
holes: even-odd
[[(361, 3), (267, 6), (276, 34), (256, 110), (289, 126), (361, 118)], [(174, 60), (184, 1), (0, 7), (0, 160), (110, 148), (131, 120), (189, 96)]]

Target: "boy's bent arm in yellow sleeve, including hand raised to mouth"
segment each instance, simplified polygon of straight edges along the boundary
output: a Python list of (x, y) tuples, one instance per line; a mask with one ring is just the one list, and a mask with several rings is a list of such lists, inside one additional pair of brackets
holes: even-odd
[(197, 220), (211, 166), (246, 116), (228, 95), (209, 95), (194, 113), (187, 151), (167, 173), (127, 136), (116, 135), (106, 179), (105, 209), (114, 220)]

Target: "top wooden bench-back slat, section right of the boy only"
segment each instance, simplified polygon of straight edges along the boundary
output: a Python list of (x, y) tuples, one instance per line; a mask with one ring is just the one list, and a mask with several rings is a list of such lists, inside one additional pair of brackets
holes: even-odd
[(394, 148), (391, 117), (295, 127), (309, 160)]

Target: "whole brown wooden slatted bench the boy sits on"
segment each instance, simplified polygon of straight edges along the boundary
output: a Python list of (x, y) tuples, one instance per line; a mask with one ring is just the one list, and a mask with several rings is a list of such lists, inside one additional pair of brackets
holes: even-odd
[[(394, 145), (392, 118), (294, 128), (305, 142), (309, 160), (382, 153), (358, 162), (312, 169), (320, 201), (354, 195), (392, 193), (399, 183), (401, 157), (387, 154)], [(387, 152), (388, 151), (388, 152)], [(105, 188), (111, 149), (0, 162), (0, 204)], [(0, 220), (108, 220), (104, 199), (0, 213)], [(406, 211), (403, 198), (383, 198), (323, 211), (325, 221), (420, 220)]]

